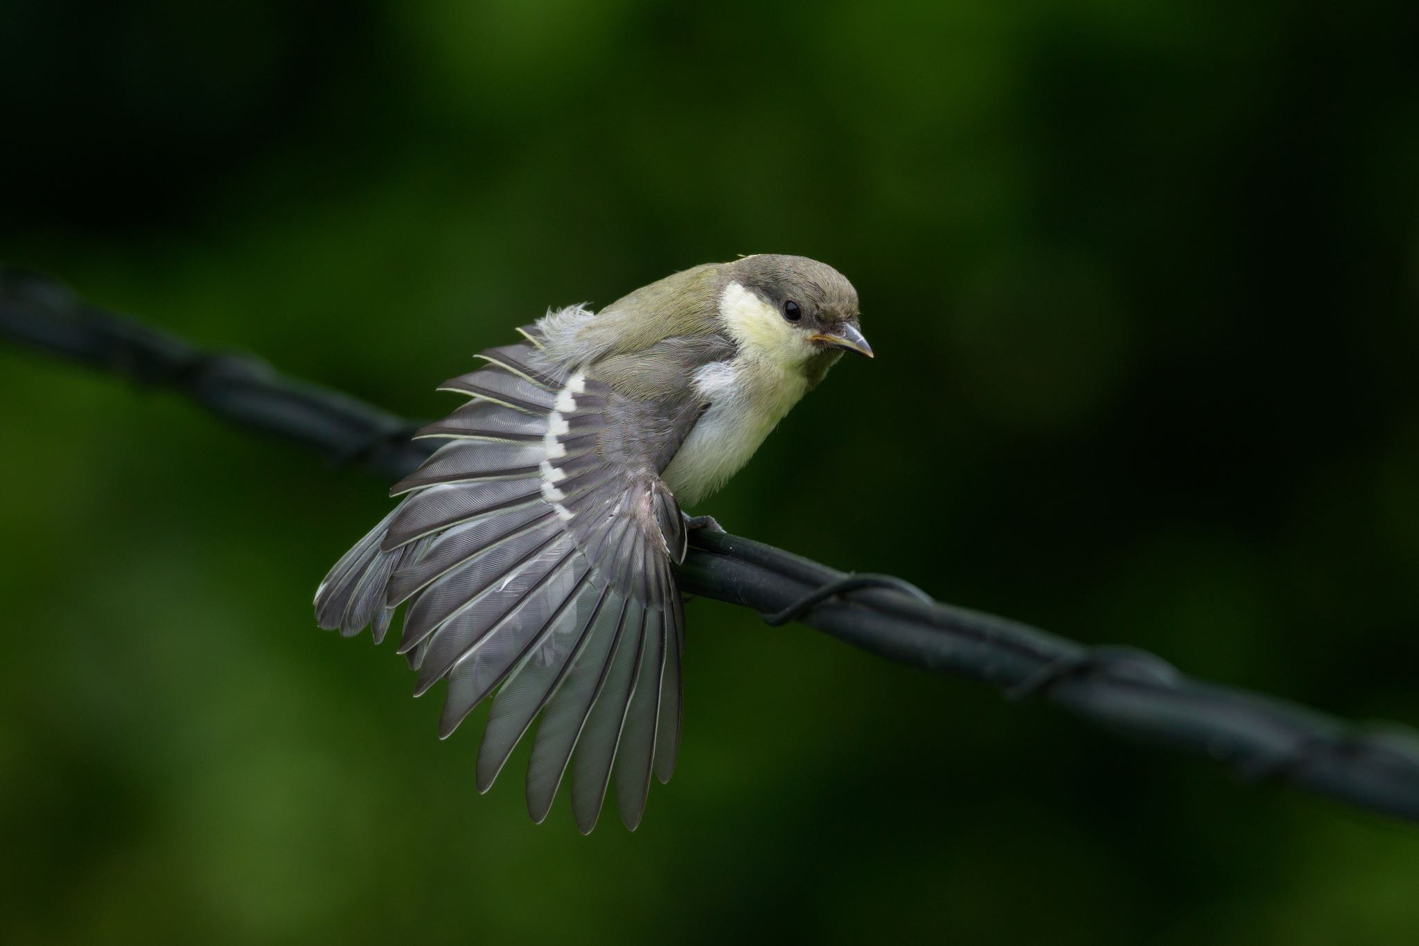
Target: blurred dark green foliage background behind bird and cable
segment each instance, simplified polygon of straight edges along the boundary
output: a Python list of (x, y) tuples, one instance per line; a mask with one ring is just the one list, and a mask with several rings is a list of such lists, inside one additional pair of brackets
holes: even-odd
[[(412, 416), (548, 305), (846, 272), (705, 512), (1419, 722), (1412, 3), (0, 7), (0, 260)], [(1419, 833), (690, 608), (643, 827), (478, 797), (315, 583), (385, 484), (0, 347), (0, 939), (1384, 943)], [(830, 511), (816, 496), (851, 495)]]

